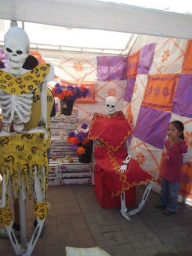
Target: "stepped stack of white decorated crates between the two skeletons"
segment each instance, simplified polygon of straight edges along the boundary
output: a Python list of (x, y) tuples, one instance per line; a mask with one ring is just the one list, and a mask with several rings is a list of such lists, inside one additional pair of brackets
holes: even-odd
[(92, 163), (80, 163), (76, 152), (70, 150), (67, 142), (68, 132), (77, 129), (77, 121), (73, 115), (51, 118), (49, 186), (92, 182)]

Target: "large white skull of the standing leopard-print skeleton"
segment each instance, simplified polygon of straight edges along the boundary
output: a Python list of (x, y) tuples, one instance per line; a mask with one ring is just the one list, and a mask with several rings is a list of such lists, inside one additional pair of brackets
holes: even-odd
[(22, 28), (12, 27), (4, 35), (4, 53), (11, 68), (19, 69), (29, 54), (29, 38)]

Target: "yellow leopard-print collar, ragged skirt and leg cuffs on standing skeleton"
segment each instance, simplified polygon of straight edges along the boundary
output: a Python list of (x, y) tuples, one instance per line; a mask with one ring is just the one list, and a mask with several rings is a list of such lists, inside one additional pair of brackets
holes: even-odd
[[(15, 77), (0, 70), (0, 90), (10, 94), (34, 92), (49, 73), (50, 65), (38, 65), (26, 74)], [(8, 207), (9, 191), (14, 198), (19, 196), (20, 186), (25, 184), (26, 195), (31, 198), (35, 172), (40, 177), (42, 191), (47, 190), (47, 152), (44, 133), (10, 134), (0, 136), (0, 173), (5, 183), (5, 191), (0, 195), (5, 198), (5, 206), (0, 208), (0, 224), (10, 225), (13, 214)], [(42, 172), (44, 170), (44, 172)], [(4, 193), (4, 195), (3, 195)], [(35, 202), (35, 214), (43, 219), (47, 214), (47, 202)]]

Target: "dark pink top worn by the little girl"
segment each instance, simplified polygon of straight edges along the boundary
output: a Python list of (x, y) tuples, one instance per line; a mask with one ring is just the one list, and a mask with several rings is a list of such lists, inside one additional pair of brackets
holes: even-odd
[(182, 179), (182, 153), (188, 152), (184, 140), (179, 140), (170, 147), (170, 139), (165, 141), (166, 154), (162, 175), (171, 182), (180, 182)]

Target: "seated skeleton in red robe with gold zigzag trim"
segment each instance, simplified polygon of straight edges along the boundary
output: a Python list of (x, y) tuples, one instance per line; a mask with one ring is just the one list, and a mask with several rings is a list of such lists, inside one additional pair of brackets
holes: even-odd
[[(135, 184), (140, 184), (141, 182), (145, 183), (147, 182), (147, 180), (152, 180), (153, 178), (148, 173), (145, 173), (143, 170), (141, 170), (140, 166), (138, 165), (138, 163), (136, 163), (134, 159), (131, 159), (131, 153), (129, 152), (129, 143), (128, 143), (128, 140), (126, 140), (126, 138), (128, 138), (129, 135), (131, 134), (131, 127), (129, 127), (129, 125), (125, 121), (125, 116), (122, 113), (122, 111), (116, 111), (116, 98), (113, 96), (109, 96), (106, 98), (106, 114), (107, 115), (96, 113), (96, 115), (93, 117), (94, 121), (92, 122), (91, 128), (90, 128), (90, 130), (92, 130), (92, 125), (93, 125), (93, 133), (92, 131), (90, 132), (90, 138), (92, 138), (93, 140), (94, 138), (97, 138), (95, 140), (95, 143), (97, 145), (104, 146), (101, 148), (106, 148), (106, 151), (105, 152), (103, 151), (103, 154), (101, 153), (100, 155), (99, 155), (99, 150), (102, 150), (102, 149), (101, 148), (99, 149), (98, 147), (95, 148), (95, 159), (97, 161), (97, 166), (99, 164), (100, 170), (102, 170), (102, 172), (106, 173), (106, 175), (111, 175), (111, 178), (108, 177), (109, 179), (108, 178), (103, 178), (103, 179), (108, 179), (108, 182), (109, 180), (111, 180), (110, 182), (113, 182), (113, 184), (110, 185), (110, 188), (109, 188), (109, 183), (106, 186), (108, 186), (108, 189), (115, 191), (113, 195), (115, 196), (120, 195), (120, 198), (121, 198), (120, 212), (122, 213), (122, 216), (124, 216), (124, 218), (126, 218), (127, 220), (130, 220), (129, 218), (130, 215), (135, 214), (136, 212), (140, 211), (140, 209), (143, 208), (143, 205), (147, 200), (148, 192), (152, 187), (152, 182), (148, 184), (138, 209), (134, 209), (131, 212), (127, 211), (127, 207), (125, 205), (125, 191), (127, 191), (127, 189), (131, 188), (132, 186), (135, 186)], [(109, 118), (108, 116), (111, 116), (111, 118)], [(120, 119), (120, 116), (122, 116), (122, 119)], [(101, 124), (100, 125), (101, 127), (99, 128), (100, 131), (98, 131), (97, 128), (95, 129), (96, 126), (98, 127), (99, 122)], [(98, 134), (97, 134), (97, 131), (98, 131)], [(115, 136), (114, 132), (118, 132), (118, 134), (122, 133), (124, 135), (121, 137)], [(121, 138), (120, 141), (118, 141), (118, 138)], [(118, 147), (117, 148), (113, 146), (111, 147), (111, 145), (113, 145), (113, 142), (111, 143), (111, 141), (115, 141)], [(122, 141), (124, 141), (124, 144), (126, 144), (126, 147), (124, 144), (122, 144), (123, 143)], [(127, 148), (127, 155), (126, 155), (126, 148)], [(111, 162), (111, 159), (112, 159), (112, 162)], [(115, 165), (112, 166), (111, 163), (115, 163)], [(116, 167), (116, 166), (119, 166), (119, 167)], [(124, 182), (122, 181), (123, 179), (125, 179), (127, 188), (125, 188), (124, 186)], [(111, 187), (113, 187), (114, 189)]]

